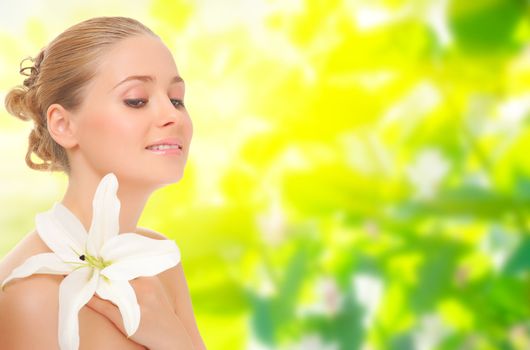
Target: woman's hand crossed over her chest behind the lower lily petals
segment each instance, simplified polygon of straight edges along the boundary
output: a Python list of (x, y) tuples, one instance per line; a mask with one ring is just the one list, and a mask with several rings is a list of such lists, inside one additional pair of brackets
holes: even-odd
[[(141, 317), (140, 326), (129, 339), (151, 350), (193, 349), (158, 277), (139, 277), (130, 283), (136, 292)], [(113, 303), (93, 296), (87, 306), (107, 317), (127, 336), (121, 313)]]

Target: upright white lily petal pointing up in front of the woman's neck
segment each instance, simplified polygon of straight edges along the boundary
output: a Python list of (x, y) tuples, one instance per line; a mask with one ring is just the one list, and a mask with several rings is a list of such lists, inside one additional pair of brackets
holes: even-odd
[(99, 182), (92, 201), (92, 223), (88, 230), (87, 250), (97, 256), (103, 243), (118, 235), (120, 229), (120, 201), (116, 196), (118, 179), (108, 173)]

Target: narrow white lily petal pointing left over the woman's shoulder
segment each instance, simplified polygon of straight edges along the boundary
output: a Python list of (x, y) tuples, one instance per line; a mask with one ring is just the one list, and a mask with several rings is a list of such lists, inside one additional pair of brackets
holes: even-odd
[(15, 278), (23, 278), (34, 273), (49, 273), (54, 275), (66, 275), (74, 269), (73, 265), (65, 264), (54, 253), (42, 253), (30, 256), (20, 266), (13, 269), (11, 274), (2, 282), (2, 289)]

